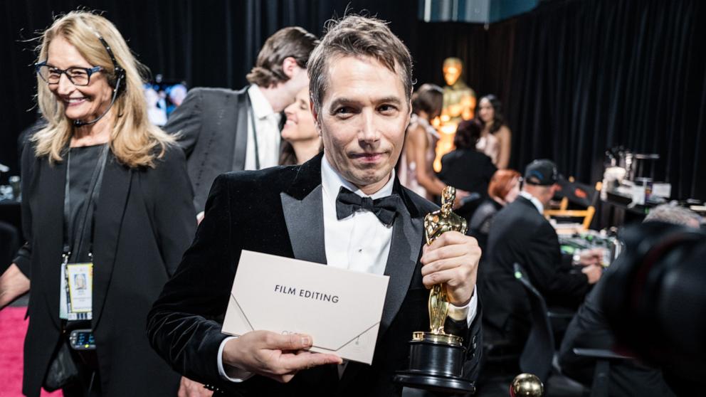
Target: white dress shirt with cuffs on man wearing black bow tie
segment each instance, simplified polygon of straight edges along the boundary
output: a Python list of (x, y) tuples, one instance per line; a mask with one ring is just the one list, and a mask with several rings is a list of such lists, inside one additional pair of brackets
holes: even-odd
[[(395, 171), (393, 169), (385, 186), (369, 197), (376, 199), (392, 194), (394, 179)], [(343, 179), (329, 164), (325, 156), (321, 160), (321, 184), (327, 265), (356, 272), (384, 274), (392, 242), (392, 226), (385, 226), (374, 213), (363, 209), (346, 218), (340, 220), (337, 218), (336, 198), (341, 186), (358, 196), (368, 195)], [(456, 320), (465, 318), (470, 326), (477, 309), (478, 294), (474, 292), (468, 305), (463, 307), (449, 305), (448, 315)], [(227, 371), (223, 368), (223, 347), (230, 339), (233, 338), (223, 339), (221, 347), (218, 349), (218, 372), (223, 379), (228, 381), (244, 381), (252, 374), (232, 366), (228, 367)], [(347, 361), (339, 365), (339, 376), (342, 376), (346, 365)]]

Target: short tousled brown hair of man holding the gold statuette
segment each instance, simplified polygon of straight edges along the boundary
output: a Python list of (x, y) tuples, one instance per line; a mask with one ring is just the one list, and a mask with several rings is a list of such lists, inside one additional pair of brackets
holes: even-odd
[(393, 73), (400, 75), (407, 102), (412, 91), (412, 57), (402, 41), (384, 21), (377, 18), (348, 15), (338, 21), (330, 20), (325, 36), (312, 51), (307, 64), (309, 92), (314, 108), (321, 109), (328, 85), (328, 64), (334, 58), (354, 56), (374, 58)]

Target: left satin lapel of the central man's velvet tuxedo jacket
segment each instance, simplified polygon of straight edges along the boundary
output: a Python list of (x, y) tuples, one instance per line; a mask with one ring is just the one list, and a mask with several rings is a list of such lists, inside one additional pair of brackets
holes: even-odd
[(321, 157), (302, 164), (280, 199), (294, 258), (325, 264)]

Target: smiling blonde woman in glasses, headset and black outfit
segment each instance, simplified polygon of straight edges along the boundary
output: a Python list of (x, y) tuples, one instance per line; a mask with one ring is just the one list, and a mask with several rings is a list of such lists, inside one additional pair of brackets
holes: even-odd
[(196, 214), (183, 152), (147, 119), (143, 68), (102, 16), (70, 12), (41, 36), (48, 125), (23, 152), (26, 244), (0, 277), (0, 307), (31, 280), (26, 396), (177, 396), (179, 375), (144, 329)]

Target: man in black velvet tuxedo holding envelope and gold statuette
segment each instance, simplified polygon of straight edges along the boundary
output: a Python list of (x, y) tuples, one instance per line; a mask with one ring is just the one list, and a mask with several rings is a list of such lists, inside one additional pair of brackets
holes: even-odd
[[(428, 329), (431, 285), (445, 282), (447, 329), (463, 337), (463, 376), (478, 374), (475, 239), (424, 244), (437, 207), (399, 184), (394, 165), (411, 113), (411, 55), (384, 22), (346, 16), (308, 63), (324, 153), (301, 166), (218, 176), (194, 244), (149, 314), (149, 339), (177, 371), (233, 396), (399, 396), (394, 372)], [(221, 334), (241, 250), (389, 275), (372, 365), (313, 354), (308, 335)]]

